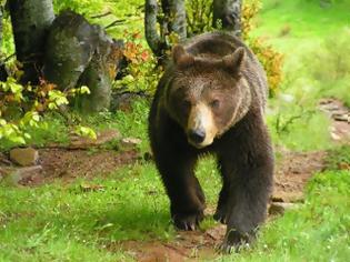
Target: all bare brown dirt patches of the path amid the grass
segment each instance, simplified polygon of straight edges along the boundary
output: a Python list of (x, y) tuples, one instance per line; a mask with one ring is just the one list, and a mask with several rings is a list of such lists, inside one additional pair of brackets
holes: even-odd
[[(350, 144), (350, 122), (344, 121), (349, 110), (338, 100), (328, 99), (320, 102), (320, 110), (324, 111), (331, 119), (331, 137), (337, 143)], [(84, 192), (101, 191), (104, 185), (93, 181), (98, 178), (109, 178), (109, 174), (126, 165), (132, 165), (138, 161), (146, 161), (139, 150), (129, 149), (124, 151), (52, 144), (38, 149), (41, 169), (17, 181), (19, 187), (38, 188), (44, 184), (57, 183), (62, 185), (74, 183), (83, 179), (80, 189)], [(286, 149), (277, 149), (277, 168), (274, 175), (274, 190), (271, 198), (269, 220), (278, 218), (284, 209), (296, 208), (302, 203), (304, 188), (313, 174), (326, 168), (327, 151), (292, 152)], [(151, 161), (148, 159), (147, 161)], [(348, 163), (340, 167), (350, 170)], [(7, 155), (0, 155), (0, 170), (13, 169)], [(14, 168), (16, 170), (16, 168)], [(13, 172), (13, 170), (12, 170)], [(209, 204), (207, 215), (214, 212), (214, 205)], [(124, 240), (107, 244), (110, 252), (121, 250), (137, 261), (201, 261), (218, 256), (214, 246), (220, 244), (224, 236), (226, 226), (214, 224), (207, 229), (186, 232), (178, 231), (173, 239), (159, 240)]]

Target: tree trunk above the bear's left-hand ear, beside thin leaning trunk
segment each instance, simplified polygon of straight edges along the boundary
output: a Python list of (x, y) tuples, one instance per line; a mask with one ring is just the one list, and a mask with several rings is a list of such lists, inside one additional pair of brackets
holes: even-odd
[(186, 39), (186, 6), (184, 0), (162, 0), (161, 6), (168, 20), (168, 31), (174, 32), (180, 39)]

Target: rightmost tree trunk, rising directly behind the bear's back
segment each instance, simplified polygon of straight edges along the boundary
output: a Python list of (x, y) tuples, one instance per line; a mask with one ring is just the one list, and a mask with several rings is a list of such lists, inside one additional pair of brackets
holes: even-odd
[(219, 28), (241, 36), (241, 8), (242, 0), (213, 0), (213, 22), (214, 28)]

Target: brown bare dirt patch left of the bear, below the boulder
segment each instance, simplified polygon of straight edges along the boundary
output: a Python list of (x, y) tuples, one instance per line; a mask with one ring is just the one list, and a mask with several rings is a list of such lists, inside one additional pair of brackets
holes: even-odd
[[(40, 185), (54, 180), (68, 183), (77, 178), (93, 179), (97, 175), (113, 172), (124, 164), (134, 163), (140, 159), (138, 150), (98, 150), (94, 152), (83, 149), (47, 148), (38, 149), (38, 152), (40, 164), (38, 167), (41, 167), (41, 169), (26, 174), (23, 179), (19, 179), (19, 184)], [(7, 164), (0, 164), (0, 171), (10, 170), (11, 172), (13, 164), (7, 162), (4, 155), (1, 159), (2, 161), (0, 162)]]

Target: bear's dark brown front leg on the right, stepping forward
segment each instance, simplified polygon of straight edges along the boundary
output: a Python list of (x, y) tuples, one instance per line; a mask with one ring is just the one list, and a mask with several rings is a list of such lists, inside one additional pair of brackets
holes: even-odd
[(272, 191), (273, 155), (269, 137), (259, 135), (259, 143), (253, 134), (247, 137), (249, 141), (237, 142), (232, 153), (221, 158), (221, 171), (229, 189), (224, 205), (227, 233), (221, 246), (224, 252), (254, 238), (256, 230), (266, 220)]

